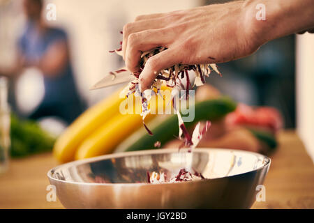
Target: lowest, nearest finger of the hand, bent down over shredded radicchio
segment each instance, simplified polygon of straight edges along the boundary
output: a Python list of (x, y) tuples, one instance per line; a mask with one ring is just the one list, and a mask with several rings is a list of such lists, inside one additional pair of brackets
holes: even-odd
[(179, 51), (177, 49), (166, 49), (155, 56), (149, 58), (144, 66), (144, 70), (139, 77), (140, 91), (150, 89), (151, 84), (158, 75), (159, 70), (170, 68), (179, 63)]

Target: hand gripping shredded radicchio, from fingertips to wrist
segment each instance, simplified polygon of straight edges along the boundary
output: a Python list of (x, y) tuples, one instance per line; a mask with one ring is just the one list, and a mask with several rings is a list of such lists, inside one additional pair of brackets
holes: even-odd
[(139, 16), (124, 26), (126, 67), (136, 72), (142, 52), (167, 48), (147, 61), (139, 78), (144, 91), (158, 70), (174, 64), (222, 63), (252, 54), (262, 42), (245, 17), (244, 1)]

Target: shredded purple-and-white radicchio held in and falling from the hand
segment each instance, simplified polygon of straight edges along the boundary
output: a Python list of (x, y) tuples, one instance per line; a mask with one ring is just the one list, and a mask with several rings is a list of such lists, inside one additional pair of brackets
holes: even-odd
[[(120, 32), (122, 33), (122, 32)], [(135, 93), (135, 96), (141, 96), (142, 97), (142, 121), (144, 124), (145, 129), (149, 134), (153, 134), (149, 128), (147, 128), (147, 125), (144, 123), (144, 119), (149, 114), (149, 100), (151, 99), (151, 96), (154, 95), (154, 91), (156, 90), (158, 93), (160, 91), (161, 84), (164, 83), (166, 86), (169, 86), (171, 88), (178, 87), (179, 89), (185, 89), (186, 90), (186, 99), (188, 99), (189, 95), (189, 89), (192, 89), (193, 86), (201, 86), (205, 83), (205, 77), (208, 77), (209, 74), (211, 73), (211, 69), (216, 71), (220, 76), (220, 72), (218, 71), (218, 68), (216, 64), (210, 63), (210, 64), (195, 64), (195, 65), (188, 65), (188, 64), (176, 64), (174, 66), (171, 66), (170, 68), (165, 68), (163, 70), (158, 70), (156, 72), (156, 79), (154, 80), (151, 89), (148, 89), (144, 91), (143, 93), (140, 92), (140, 88), (138, 86), (138, 78), (140, 76), (140, 73), (144, 69), (145, 64), (147, 63), (148, 59), (151, 56), (154, 56), (160, 52), (163, 52), (164, 50), (167, 50), (165, 47), (157, 47), (155, 49), (151, 49), (145, 52), (142, 52), (141, 59), (140, 59), (140, 69), (137, 72), (133, 72), (132, 75), (135, 76), (135, 80), (130, 82), (126, 88), (121, 91), (121, 96), (126, 96)], [(120, 42), (120, 47), (119, 49), (112, 50), (110, 52), (116, 52), (120, 56), (122, 56), (122, 41)], [(190, 77), (189, 77), (189, 71), (193, 70), (195, 72), (195, 79), (193, 84), (190, 82)], [(119, 75), (119, 72), (126, 71), (126, 69), (121, 69), (121, 70), (116, 70), (114, 72), (110, 72), (111, 75), (116, 77), (116, 75)], [(184, 79), (186, 77), (186, 86), (182, 84), (181, 79)], [(193, 137), (190, 137), (188, 134), (188, 131), (186, 130), (186, 127), (184, 125), (184, 122), (182, 121), (181, 114), (179, 110), (176, 109), (175, 103), (174, 103), (174, 98), (172, 98), (172, 105), (174, 106), (174, 109), (177, 111), (178, 114), (178, 119), (179, 119), (179, 139), (181, 138), (181, 135), (184, 134), (184, 144), (181, 146), (190, 146), (190, 148), (195, 148), (202, 139), (202, 134), (204, 134), (204, 131), (206, 132), (207, 129), (210, 126), (210, 122), (207, 123), (205, 126), (205, 129), (200, 131), (199, 130), (199, 124), (197, 124), (196, 128), (197, 131), (194, 134), (193, 132)], [(195, 130), (196, 130), (195, 128)], [(180, 147), (181, 147), (180, 146)]]

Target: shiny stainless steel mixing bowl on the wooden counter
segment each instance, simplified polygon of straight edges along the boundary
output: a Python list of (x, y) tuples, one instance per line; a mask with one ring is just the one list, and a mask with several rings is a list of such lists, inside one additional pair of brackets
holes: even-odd
[[(47, 176), (66, 208), (251, 208), (270, 162), (247, 151), (158, 149), (69, 162)], [(181, 168), (209, 179), (147, 183), (147, 171), (176, 176)]]

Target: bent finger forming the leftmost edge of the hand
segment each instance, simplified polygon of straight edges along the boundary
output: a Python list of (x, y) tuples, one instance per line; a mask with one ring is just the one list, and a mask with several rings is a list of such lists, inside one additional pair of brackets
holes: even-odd
[(160, 29), (165, 26), (165, 20), (162, 19), (149, 19), (149, 20), (142, 20), (138, 22), (131, 22), (124, 26), (124, 37), (122, 41), (122, 51), (123, 57), (126, 58), (126, 49), (128, 47), (128, 37), (132, 33), (137, 33), (144, 30), (149, 29)]

